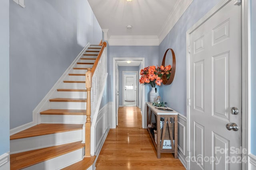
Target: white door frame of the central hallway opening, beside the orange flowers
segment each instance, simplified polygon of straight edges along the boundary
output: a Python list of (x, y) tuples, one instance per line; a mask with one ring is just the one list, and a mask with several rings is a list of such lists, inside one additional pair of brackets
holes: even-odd
[[(145, 67), (145, 58), (137, 58), (137, 57), (113, 57), (113, 103), (116, 104), (116, 62), (117, 61), (141, 61), (140, 63), (140, 68), (139, 69), (143, 69)], [(147, 117), (146, 117), (146, 113), (145, 113), (145, 86), (139, 86), (140, 90), (142, 92), (142, 95), (140, 96), (141, 102), (141, 115), (142, 115), (142, 128), (146, 128), (146, 122), (147, 122)], [(144, 105), (145, 104), (145, 105)], [(114, 128), (116, 128), (116, 116), (117, 116), (117, 112), (116, 109), (114, 110), (114, 115), (113, 115), (113, 122), (115, 123), (113, 126)]]

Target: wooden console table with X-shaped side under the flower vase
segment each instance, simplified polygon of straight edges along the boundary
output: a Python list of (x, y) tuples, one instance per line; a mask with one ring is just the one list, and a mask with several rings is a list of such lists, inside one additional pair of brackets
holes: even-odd
[[(150, 128), (147, 127), (147, 129), (152, 139), (152, 142), (154, 143), (154, 146), (156, 148), (157, 158), (161, 158), (161, 153), (174, 153), (174, 158), (177, 159), (178, 158), (178, 112), (173, 109), (172, 109), (173, 111), (163, 111), (157, 108), (171, 109), (170, 107), (152, 106), (151, 102), (147, 102), (147, 125), (151, 123), (151, 117), (153, 114), (156, 118), (156, 129), (158, 134), (157, 140), (156, 140), (157, 144), (155, 143), (153, 135), (150, 133)], [(163, 134), (162, 139), (160, 139), (161, 138), (161, 134), (160, 134), (160, 118), (161, 117), (164, 118), (164, 123), (162, 126), (162, 134)], [(174, 129), (172, 128), (173, 123), (171, 118), (174, 119)], [(169, 129), (172, 149), (163, 149), (164, 137), (165, 137), (167, 125)], [(174, 139), (173, 139), (173, 136), (174, 136)]]

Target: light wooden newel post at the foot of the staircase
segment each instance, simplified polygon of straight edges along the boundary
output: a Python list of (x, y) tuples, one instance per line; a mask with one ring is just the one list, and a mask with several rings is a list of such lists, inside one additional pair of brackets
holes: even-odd
[(85, 155), (91, 156), (91, 87), (92, 87), (92, 72), (91, 68), (85, 73), (85, 86), (87, 91), (86, 100), (86, 123), (85, 123)]

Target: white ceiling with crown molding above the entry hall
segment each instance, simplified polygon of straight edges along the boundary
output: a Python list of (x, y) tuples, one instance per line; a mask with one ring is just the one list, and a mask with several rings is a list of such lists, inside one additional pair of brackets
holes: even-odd
[(159, 45), (192, 0), (88, 2), (110, 45)]

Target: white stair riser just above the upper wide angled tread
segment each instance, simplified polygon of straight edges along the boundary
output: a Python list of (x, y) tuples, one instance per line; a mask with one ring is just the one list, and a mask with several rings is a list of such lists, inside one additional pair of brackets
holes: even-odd
[(41, 115), (42, 123), (83, 124), (86, 115)]

